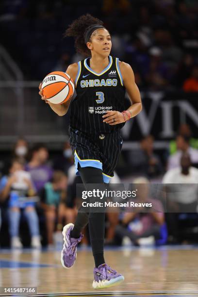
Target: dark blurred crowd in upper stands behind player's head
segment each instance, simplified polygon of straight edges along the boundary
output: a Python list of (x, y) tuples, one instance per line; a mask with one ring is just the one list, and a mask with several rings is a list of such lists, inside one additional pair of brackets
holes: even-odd
[(40, 80), (83, 58), (63, 33), (86, 13), (104, 21), (112, 35), (111, 54), (132, 66), (140, 90), (198, 91), (196, 0), (3, 0), (0, 42), (26, 78)]

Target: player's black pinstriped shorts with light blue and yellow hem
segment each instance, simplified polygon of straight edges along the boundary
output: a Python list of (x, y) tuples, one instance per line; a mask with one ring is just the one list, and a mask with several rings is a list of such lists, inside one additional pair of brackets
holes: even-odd
[(102, 169), (104, 182), (109, 182), (114, 176), (122, 148), (123, 139), (120, 131), (89, 135), (69, 126), (69, 142), (75, 160), (76, 175), (80, 175), (78, 171), (80, 163), (81, 167)]

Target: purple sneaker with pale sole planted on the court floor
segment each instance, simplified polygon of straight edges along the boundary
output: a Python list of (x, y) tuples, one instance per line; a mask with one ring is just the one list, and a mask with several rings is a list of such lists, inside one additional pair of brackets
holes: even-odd
[(124, 281), (124, 276), (117, 273), (114, 269), (108, 266), (106, 263), (99, 265), (98, 268), (94, 268), (94, 289), (109, 288)]

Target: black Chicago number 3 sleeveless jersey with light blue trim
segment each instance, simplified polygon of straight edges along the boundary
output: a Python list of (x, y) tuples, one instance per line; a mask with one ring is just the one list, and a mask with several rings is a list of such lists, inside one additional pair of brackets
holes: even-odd
[(90, 58), (78, 62), (75, 80), (77, 96), (70, 104), (70, 126), (87, 134), (109, 133), (125, 123), (103, 123), (107, 110), (124, 110), (125, 87), (118, 58), (109, 56), (109, 65), (100, 73), (90, 68)]

